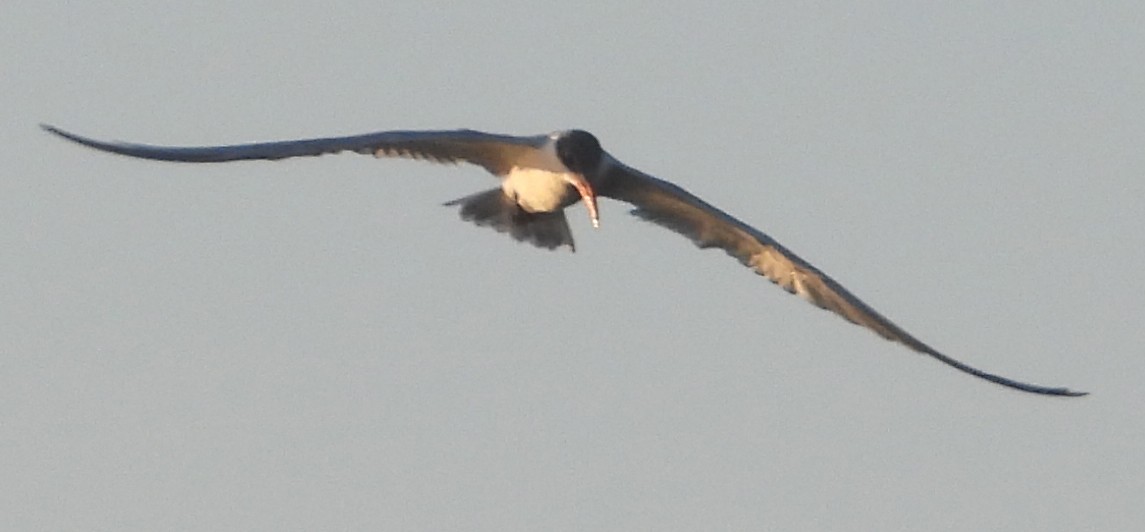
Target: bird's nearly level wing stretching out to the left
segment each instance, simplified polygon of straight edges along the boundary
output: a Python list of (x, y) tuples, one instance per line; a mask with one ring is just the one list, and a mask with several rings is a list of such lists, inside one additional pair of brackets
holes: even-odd
[(286, 159), (352, 151), (374, 157), (402, 157), (435, 162), (472, 162), (503, 175), (514, 157), (545, 143), (545, 135), (511, 136), (469, 129), (441, 132), (380, 132), (365, 135), (260, 142), (220, 146), (158, 146), (104, 142), (41, 125), (45, 130), (100, 151), (142, 159), (182, 162), (226, 162), (250, 159)]

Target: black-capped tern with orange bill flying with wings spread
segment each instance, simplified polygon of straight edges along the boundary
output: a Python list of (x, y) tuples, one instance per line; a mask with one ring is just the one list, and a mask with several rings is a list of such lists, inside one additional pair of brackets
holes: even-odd
[(595, 136), (584, 130), (570, 129), (535, 136), (497, 135), (471, 129), (393, 130), (220, 146), (159, 146), (103, 142), (53, 126), (41, 127), (96, 150), (166, 161), (277, 160), (353, 151), (379, 158), (469, 162), (499, 177), (500, 186), (445, 205), (459, 207), (463, 220), (548, 249), (568, 246), (575, 251), (572, 232), (564, 216), (566, 207), (583, 200), (592, 225), (599, 227), (598, 197), (626, 201), (635, 207), (633, 215), (678, 232), (701, 248), (724, 249), (756, 273), (807, 302), (958, 371), (1032, 394), (1087, 395), (1083, 391), (1029, 384), (987, 373), (939, 352), (763, 231), (680, 186), (625, 166), (601, 149)]

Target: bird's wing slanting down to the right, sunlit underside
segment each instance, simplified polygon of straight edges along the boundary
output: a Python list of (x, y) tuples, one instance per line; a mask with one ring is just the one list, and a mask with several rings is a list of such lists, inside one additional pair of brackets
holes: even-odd
[(955, 360), (914, 338), (847, 292), (815, 267), (761, 231), (712, 207), (688, 191), (611, 159), (598, 193), (634, 205), (632, 214), (692, 239), (701, 248), (718, 247), (783, 289), (971, 375), (1033, 394), (1082, 396), (1085, 392), (1018, 382)]

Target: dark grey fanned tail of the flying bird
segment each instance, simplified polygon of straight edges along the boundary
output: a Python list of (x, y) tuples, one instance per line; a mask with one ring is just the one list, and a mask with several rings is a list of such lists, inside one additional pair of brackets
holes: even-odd
[(567, 245), (569, 249), (576, 251), (564, 211), (528, 213), (521, 209), (516, 201), (505, 196), (502, 189), (477, 192), (448, 201), (445, 205), (459, 205), (461, 220), (492, 228), (498, 232), (507, 232), (518, 241), (546, 249)]

